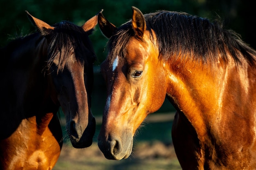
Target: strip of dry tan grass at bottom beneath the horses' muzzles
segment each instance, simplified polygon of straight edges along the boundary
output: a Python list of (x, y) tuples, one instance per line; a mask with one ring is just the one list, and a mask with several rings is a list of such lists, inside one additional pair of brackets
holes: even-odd
[(181, 170), (172, 145), (162, 142), (139, 142), (128, 159), (106, 159), (97, 143), (85, 149), (63, 146), (54, 170)]

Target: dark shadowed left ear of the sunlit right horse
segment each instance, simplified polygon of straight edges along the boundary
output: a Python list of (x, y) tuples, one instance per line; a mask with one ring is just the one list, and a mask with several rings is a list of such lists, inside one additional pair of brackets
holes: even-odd
[(106, 38), (110, 38), (117, 27), (110, 23), (102, 14), (102, 11), (98, 15), (98, 23), (99, 23), (99, 28), (101, 29), (101, 32), (103, 35), (106, 36)]

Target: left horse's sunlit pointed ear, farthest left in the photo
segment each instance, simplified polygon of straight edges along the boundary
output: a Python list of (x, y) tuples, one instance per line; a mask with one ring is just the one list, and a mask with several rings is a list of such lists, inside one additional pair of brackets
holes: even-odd
[(34, 26), (36, 26), (38, 28), (41, 35), (47, 35), (47, 34), (49, 34), (50, 30), (54, 29), (53, 26), (50, 26), (49, 24), (43, 22), (42, 20), (39, 20), (39, 19), (33, 17), (32, 15), (30, 15), (30, 13), (28, 11), (26, 11), (26, 13), (27, 13), (29, 20), (34, 24)]

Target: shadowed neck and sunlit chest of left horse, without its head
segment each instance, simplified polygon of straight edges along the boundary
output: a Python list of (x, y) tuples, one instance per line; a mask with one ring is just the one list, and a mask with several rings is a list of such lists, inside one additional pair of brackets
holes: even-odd
[(3, 49), (8, 61), (2, 67), (1, 169), (52, 169), (61, 152), (62, 130), (42, 73), (47, 40), (35, 33), (16, 41), (22, 44), (16, 48), (20, 53), (7, 54), (14, 42)]

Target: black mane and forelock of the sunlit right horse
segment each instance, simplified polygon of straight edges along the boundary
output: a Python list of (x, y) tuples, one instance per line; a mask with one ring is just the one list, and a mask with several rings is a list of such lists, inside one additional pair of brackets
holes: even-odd
[[(185, 56), (186, 59), (206, 64), (214, 63), (218, 57), (222, 57), (227, 63), (227, 55), (230, 54), (236, 64), (240, 63), (241, 57), (245, 57), (249, 64), (255, 65), (256, 51), (243, 42), (240, 35), (223, 29), (220, 22), (210, 22), (207, 18), (170, 11), (157, 11), (144, 17), (151, 39), (151, 29), (156, 34), (160, 60)], [(120, 26), (108, 42), (108, 56), (124, 57), (126, 44), (133, 35), (131, 21)]]

